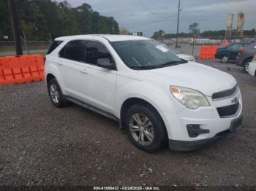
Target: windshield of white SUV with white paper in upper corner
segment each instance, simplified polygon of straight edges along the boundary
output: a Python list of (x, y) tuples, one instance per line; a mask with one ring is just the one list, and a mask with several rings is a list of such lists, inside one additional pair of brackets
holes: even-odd
[(157, 69), (187, 63), (168, 47), (154, 40), (118, 41), (111, 44), (131, 69)]

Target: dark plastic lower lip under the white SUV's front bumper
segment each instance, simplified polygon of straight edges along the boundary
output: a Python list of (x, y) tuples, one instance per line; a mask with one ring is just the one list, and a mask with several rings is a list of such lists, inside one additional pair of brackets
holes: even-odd
[(203, 147), (206, 144), (209, 144), (211, 141), (219, 139), (222, 136), (225, 136), (227, 133), (230, 133), (230, 131), (235, 130), (236, 128), (242, 125), (242, 122), (243, 122), (243, 116), (241, 115), (235, 120), (232, 120), (232, 122), (230, 123), (230, 127), (227, 130), (217, 133), (216, 136), (210, 139), (202, 139), (197, 141), (178, 141), (178, 140), (169, 139), (169, 147), (171, 150), (175, 150), (175, 151), (191, 151), (191, 150), (199, 149), (200, 147)]

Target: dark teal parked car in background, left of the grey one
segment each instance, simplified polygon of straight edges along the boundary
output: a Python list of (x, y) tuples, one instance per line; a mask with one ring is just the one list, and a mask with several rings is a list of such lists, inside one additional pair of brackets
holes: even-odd
[(222, 63), (228, 63), (231, 60), (236, 60), (239, 50), (245, 45), (245, 42), (239, 42), (230, 44), (226, 47), (220, 47), (215, 54), (215, 58), (221, 59)]

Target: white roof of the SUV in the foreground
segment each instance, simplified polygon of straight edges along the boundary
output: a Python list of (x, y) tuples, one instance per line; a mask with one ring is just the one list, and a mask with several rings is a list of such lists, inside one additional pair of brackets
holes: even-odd
[(108, 39), (110, 42), (116, 41), (127, 41), (127, 40), (146, 40), (148, 38), (143, 36), (133, 36), (133, 35), (118, 35), (118, 34), (86, 34), (86, 35), (76, 35), (76, 36), (61, 36), (56, 38), (56, 40), (72, 40), (72, 39)]

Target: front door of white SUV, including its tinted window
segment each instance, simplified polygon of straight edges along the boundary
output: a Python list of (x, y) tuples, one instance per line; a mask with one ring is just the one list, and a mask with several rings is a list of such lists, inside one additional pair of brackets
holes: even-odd
[(109, 58), (114, 62), (112, 55), (100, 42), (86, 42), (86, 95), (89, 103), (111, 114), (115, 111), (116, 77), (117, 71), (97, 66), (97, 59)]

